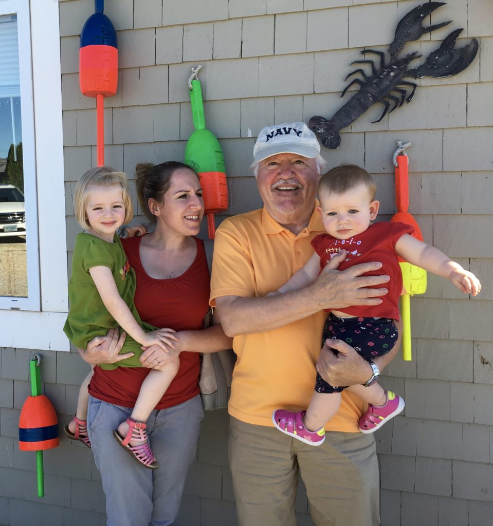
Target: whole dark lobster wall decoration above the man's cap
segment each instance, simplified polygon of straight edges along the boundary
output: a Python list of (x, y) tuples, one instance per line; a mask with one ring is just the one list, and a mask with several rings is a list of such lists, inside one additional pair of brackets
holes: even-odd
[[(414, 96), (417, 85), (404, 80), (405, 78), (450, 77), (457, 75), (457, 73), (469, 66), (478, 51), (478, 41), (476, 38), (472, 38), (464, 47), (454, 49), (456, 39), (462, 32), (462, 29), (452, 31), (442, 42), (441, 46), (428, 55), (426, 62), (417, 68), (408, 69), (409, 63), (421, 56), (417, 55), (416, 51), (399, 58), (399, 53), (406, 42), (416, 41), (424, 33), (429, 33), (439, 27), (450, 24), (451, 20), (428, 27), (422, 26), (425, 16), (428, 16), (444, 4), (445, 2), (422, 4), (409, 11), (401, 19), (396, 28), (394, 42), (390, 44), (388, 50), (390, 54), (389, 64), (385, 64), (385, 53), (374, 49), (363, 49), (361, 55), (366, 55), (367, 53), (378, 55), (380, 57), (380, 69), (377, 70), (373, 60), (355, 60), (351, 62), (351, 65), (370, 64), (372, 75), (368, 76), (361, 68), (349, 73), (345, 80), (356, 73), (360, 73), (363, 80), (360, 78), (351, 80), (344, 88), (341, 97), (345, 95), (353, 84), (360, 86), (359, 91), (331, 119), (327, 120), (318, 115), (311, 117), (309, 127), (324, 146), (331, 149), (337, 148), (340, 144), (339, 130), (349, 126), (375, 103), (379, 102), (385, 106), (380, 118), (373, 121), (375, 123), (380, 122), (387, 112), (393, 112), (397, 107), (402, 106), (405, 100), (409, 103)], [(408, 94), (409, 90), (410, 93)], [(389, 110), (391, 103), (393, 103), (393, 106)]]

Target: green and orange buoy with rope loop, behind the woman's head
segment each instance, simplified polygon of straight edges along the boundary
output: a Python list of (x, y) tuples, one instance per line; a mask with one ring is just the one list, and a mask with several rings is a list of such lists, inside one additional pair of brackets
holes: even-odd
[(200, 185), (204, 190), (209, 239), (214, 239), (214, 214), (228, 208), (228, 187), (223, 150), (212, 131), (205, 127), (202, 88), (197, 76), (200, 68), (202, 66), (193, 67), (192, 76), (188, 79), (195, 131), (190, 135), (185, 148), (185, 164), (192, 167), (200, 178)]

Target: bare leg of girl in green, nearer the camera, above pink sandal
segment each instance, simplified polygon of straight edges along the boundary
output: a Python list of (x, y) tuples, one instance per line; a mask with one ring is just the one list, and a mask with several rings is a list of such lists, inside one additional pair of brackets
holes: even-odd
[[(135, 407), (130, 414), (130, 418), (136, 422), (146, 422), (150, 413), (156, 407), (156, 404), (163, 397), (169, 387), (169, 384), (175, 378), (179, 367), (179, 358), (167, 363), (166, 367), (161, 370), (153, 369), (146, 376), (140, 387), (139, 396), (135, 402)], [(118, 434), (125, 438), (130, 426), (126, 420), (118, 426)], [(142, 441), (130, 440), (130, 446), (138, 446)]]

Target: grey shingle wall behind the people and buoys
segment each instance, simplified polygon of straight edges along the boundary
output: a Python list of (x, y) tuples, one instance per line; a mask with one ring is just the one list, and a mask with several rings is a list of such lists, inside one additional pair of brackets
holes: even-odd
[[(385, 51), (396, 23), (418, 4), (107, 0), (120, 71), (118, 93), (105, 100), (106, 163), (132, 178), (139, 161), (183, 158), (193, 130), (187, 79), (190, 67), (202, 64), (206, 123), (223, 147), (230, 196), (229, 209), (216, 222), (260, 206), (248, 171), (259, 130), (333, 114), (343, 103), (339, 94), (349, 63), (363, 47)], [(78, 35), (93, 8), (92, 0), (60, 3), (69, 250), (78, 231), (75, 181), (96, 164), (95, 103), (79, 92), (77, 74)], [(450, 29), (405, 50), (426, 57), (452, 28), (465, 27), (464, 39), (480, 41), (474, 63), (454, 77), (418, 80), (411, 104), (378, 124), (371, 120), (382, 108), (371, 108), (345, 130), (338, 150), (322, 152), (329, 166), (350, 162), (375, 174), (381, 214), (388, 218), (394, 213), (391, 156), (397, 139), (411, 141), (410, 211), (425, 241), (476, 272), (483, 285), (471, 301), (449, 282), (428, 276), (427, 293), (411, 300), (413, 360), (396, 358), (382, 381), (406, 398), (405, 414), (376, 434), (383, 526), (484, 526), (493, 513), (493, 4), (449, 0), (431, 23), (448, 19), (454, 20)], [(104, 524), (104, 496), (90, 452), (64, 437), (59, 448), (45, 452), (46, 497), (35, 497), (34, 454), (17, 448), (33, 353), (1, 353), (0, 523)], [(76, 353), (42, 355), (46, 394), (66, 423), (87, 367)], [(312, 524), (307, 509), (301, 489), (302, 525)], [(236, 524), (225, 411), (204, 420), (182, 523)]]

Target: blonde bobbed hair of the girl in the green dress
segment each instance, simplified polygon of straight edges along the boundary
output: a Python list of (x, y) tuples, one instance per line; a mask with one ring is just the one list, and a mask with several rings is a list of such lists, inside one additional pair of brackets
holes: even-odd
[(124, 223), (129, 223), (134, 215), (132, 198), (127, 186), (127, 176), (123, 171), (116, 171), (109, 166), (98, 166), (87, 170), (86, 173), (77, 181), (74, 192), (74, 214), (82, 228), (90, 228), (86, 217), (87, 199), (92, 188), (108, 188), (120, 185), (122, 187), (123, 204), (125, 206)]

